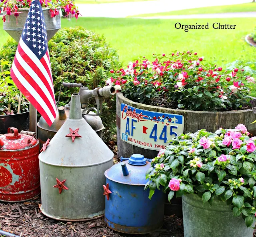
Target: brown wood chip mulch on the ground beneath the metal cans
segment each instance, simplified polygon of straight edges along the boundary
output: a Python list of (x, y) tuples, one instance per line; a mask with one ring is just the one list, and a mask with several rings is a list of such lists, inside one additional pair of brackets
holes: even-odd
[[(40, 212), (40, 197), (24, 203), (0, 203), (0, 229), (20, 237), (134, 237), (109, 229), (103, 218), (92, 221), (56, 221)], [(139, 237), (183, 237), (182, 219), (165, 216), (162, 229)]]

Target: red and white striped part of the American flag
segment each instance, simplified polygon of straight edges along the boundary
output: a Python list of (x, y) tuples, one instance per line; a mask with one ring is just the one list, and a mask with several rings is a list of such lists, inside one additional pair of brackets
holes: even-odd
[(48, 125), (52, 125), (56, 118), (56, 101), (48, 50), (39, 60), (21, 37), (12, 64), (11, 77)]

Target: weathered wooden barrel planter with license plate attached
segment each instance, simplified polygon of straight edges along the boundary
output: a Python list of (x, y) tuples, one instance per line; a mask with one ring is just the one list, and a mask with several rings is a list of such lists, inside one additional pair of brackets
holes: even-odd
[[(128, 100), (123, 96), (122, 93), (116, 95), (116, 125), (117, 125), (117, 146), (118, 146), (118, 158), (120, 157), (130, 157), (132, 154), (142, 154), (146, 158), (153, 159), (157, 156), (158, 151), (152, 149), (145, 149), (138, 147), (136, 145), (127, 143), (121, 139), (120, 133), (120, 121), (121, 121), (121, 104), (126, 104), (128, 106), (134, 107), (140, 110), (160, 112), (166, 114), (176, 114), (182, 115), (184, 118), (184, 130), (183, 133), (196, 132), (200, 129), (206, 129), (207, 131), (214, 132), (220, 127), (224, 129), (234, 128), (236, 125), (242, 123), (244, 124), (248, 131), (252, 135), (256, 131), (256, 123), (251, 124), (256, 120), (256, 114), (253, 111), (256, 109), (248, 110), (238, 110), (238, 111), (228, 111), (228, 112), (204, 112), (204, 111), (190, 111), (190, 110), (175, 110), (168, 109), (157, 106), (149, 106), (146, 104), (140, 104)], [(252, 108), (256, 106), (255, 100), (252, 100)], [(159, 134), (158, 134), (159, 136)], [(166, 201), (165, 214), (177, 216), (182, 216), (182, 206), (181, 199), (172, 201), (170, 204), (168, 200)]]

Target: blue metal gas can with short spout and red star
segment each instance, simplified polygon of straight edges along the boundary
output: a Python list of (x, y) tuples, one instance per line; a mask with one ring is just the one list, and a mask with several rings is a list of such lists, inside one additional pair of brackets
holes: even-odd
[(165, 194), (156, 189), (150, 200), (149, 189), (144, 190), (150, 167), (143, 155), (134, 154), (105, 171), (105, 222), (110, 229), (144, 234), (162, 227)]

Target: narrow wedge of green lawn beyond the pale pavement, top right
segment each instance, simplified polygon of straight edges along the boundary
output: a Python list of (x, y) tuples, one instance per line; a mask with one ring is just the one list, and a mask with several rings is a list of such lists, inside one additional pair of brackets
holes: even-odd
[(226, 12), (256, 12), (256, 2), (227, 5), (227, 6), (192, 8), (192, 9), (187, 9), (187, 10), (159, 12), (159, 13), (152, 13), (152, 14), (142, 14), (142, 15), (136, 15), (136, 16), (130, 16), (130, 17), (193, 15), (193, 14), (226, 13)]

